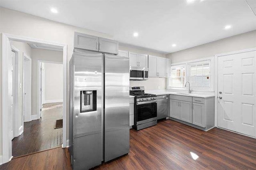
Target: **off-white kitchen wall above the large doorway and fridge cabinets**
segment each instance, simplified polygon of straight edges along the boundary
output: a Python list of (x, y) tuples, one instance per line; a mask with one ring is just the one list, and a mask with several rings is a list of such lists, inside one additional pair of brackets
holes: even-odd
[[(84, 28), (78, 28), (75, 26), (54, 22), (51, 20), (37, 17), (37, 16), (32, 16), (30, 14), (24, 14), (22, 12), (17, 12), (14, 10), (9, 10), (9, 9), (0, 7), (0, 33), (7, 33), (7, 34), (13, 34), (17, 36), (24, 36), (29, 38), (36, 38), (40, 40), (47, 40), (51, 42), (67, 44), (67, 47), (68, 47), (67, 61), (69, 61), (72, 56), (72, 51), (74, 48), (73, 43), (74, 43), (75, 31), (81, 32), (84, 34), (90, 34), (93, 36), (100, 36), (103, 38), (113, 39), (113, 36), (109, 34), (87, 30)], [(0, 62), (2, 63), (2, 50), (0, 51), (0, 58), (1, 58)], [(69, 67), (69, 65), (67, 65), (67, 67)], [(67, 76), (67, 79), (68, 79), (68, 76)], [(0, 96), (2, 96), (2, 88), (0, 91)], [(67, 113), (68, 113), (68, 108), (67, 108)], [(2, 109), (0, 109), (0, 117), (2, 119)], [(67, 125), (68, 125), (68, 120), (67, 120)], [(68, 136), (68, 130), (67, 130), (67, 136)], [(0, 140), (1, 139), (2, 139), (2, 136), (0, 136)], [(2, 141), (0, 143), (0, 146), (2, 146)], [(0, 150), (0, 155), (2, 155), (2, 150)]]

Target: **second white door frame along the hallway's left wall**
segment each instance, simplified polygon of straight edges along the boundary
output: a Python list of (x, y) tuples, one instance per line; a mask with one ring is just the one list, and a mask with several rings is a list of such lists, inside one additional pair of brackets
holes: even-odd
[[(24, 87), (25, 87), (25, 82), (24, 82), (24, 79), (25, 79), (25, 60), (27, 60), (27, 61), (30, 61), (30, 78), (32, 78), (32, 59), (30, 58), (30, 56), (28, 56), (28, 55), (26, 55), (25, 53), (23, 53), (23, 85), (22, 85), (22, 100), (23, 100), (23, 102), (22, 102), (22, 104), (23, 104), (23, 109), (22, 109), (22, 125), (24, 125), (24, 118), (25, 118), (25, 113), (24, 113), (24, 103), (25, 103), (25, 100), (24, 100), (24, 97), (25, 97), (25, 95), (24, 95)], [(30, 86), (31, 86), (31, 81), (30, 81)], [(31, 94), (32, 94), (32, 89), (31, 89), (31, 87), (30, 87), (30, 91), (29, 91), (30, 93), (28, 94), (28, 95), (30, 95), (31, 96)], [(28, 105), (30, 105), (30, 109), (31, 109), (31, 98), (30, 98), (30, 101), (29, 101), (29, 103), (28, 103)], [(29, 112), (28, 112), (29, 113)], [(30, 111), (30, 114), (28, 114), (27, 113), (27, 115), (26, 115), (26, 117), (30, 117), (28, 120), (29, 121), (31, 121), (32, 119), (31, 119), (31, 111)], [(22, 132), (23, 132), (23, 130), (21, 131), (21, 133), (20, 134), (22, 134)]]

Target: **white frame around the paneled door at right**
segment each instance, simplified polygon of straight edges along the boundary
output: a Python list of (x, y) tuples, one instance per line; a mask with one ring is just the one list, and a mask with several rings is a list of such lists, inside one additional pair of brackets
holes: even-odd
[[(214, 126), (218, 127), (218, 57), (222, 57), (225, 55), (232, 55), (232, 54), (238, 54), (238, 53), (244, 53), (244, 52), (250, 52), (250, 51), (256, 51), (256, 48), (250, 48), (250, 49), (243, 49), (243, 50), (239, 50), (239, 51), (233, 51), (233, 52), (228, 52), (228, 53), (222, 53), (222, 54), (216, 54), (214, 56), (214, 96), (215, 96), (215, 102), (214, 102)], [(256, 65), (256, 60), (254, 61), (255, 65)], [(255, 74), (255, 79), (256, 79), (256, 74)], [(256, 97), (256, 96), (255, 96)], [(256, 109), (255, 109), (256, 112)], [(256, 121), (256, 120), (255, 120)], [(221, 128), (221, 127), (218, 127)], [(222, 128), (223, 129), (223, 128)], [(227, 129), (224, 129), (227, 130)], [(231, 130), (228, 130), (231, 131)], [(233, 131), (231, 131), (233, 132)], [(238, 132), (235, 132), (238, 133)], [(238, 133), (241, 134), (241, 133)], [(246, 134), (242, 134), (244, 136), (248, 136)], [(249, 136), (252, 137), (252, 136)]]

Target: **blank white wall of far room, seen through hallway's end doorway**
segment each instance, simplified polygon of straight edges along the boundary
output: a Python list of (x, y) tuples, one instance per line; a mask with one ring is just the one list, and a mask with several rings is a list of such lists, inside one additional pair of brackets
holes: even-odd
[(44, 63), (45, 103), (63, 101), (63, 64)]

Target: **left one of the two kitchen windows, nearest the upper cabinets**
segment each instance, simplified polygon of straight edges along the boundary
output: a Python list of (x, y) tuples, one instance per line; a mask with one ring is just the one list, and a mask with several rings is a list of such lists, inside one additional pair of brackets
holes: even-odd
[(171, 67), (171, 87), (184, 87), (186, 77), (186, 65), (175, 65)]

